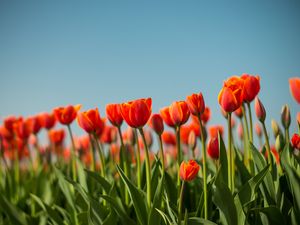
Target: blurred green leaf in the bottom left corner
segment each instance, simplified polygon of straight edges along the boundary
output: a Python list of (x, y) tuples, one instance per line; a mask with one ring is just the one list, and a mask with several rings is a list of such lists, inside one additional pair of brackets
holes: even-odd
[(0, 195), (0, 208), (5, 213), (13, 224), (27, 225), (25, 213), (22, 212), (17, 206), (11, 204), (4, 195)]

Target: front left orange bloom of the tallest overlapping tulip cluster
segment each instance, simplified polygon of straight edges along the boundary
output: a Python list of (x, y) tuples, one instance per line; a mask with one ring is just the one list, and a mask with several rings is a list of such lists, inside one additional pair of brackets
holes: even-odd
[(243, 86), (243, 79), (237, 76), (230, 77), (224, 82), (218, 95), (218, 101), (225, 112), (233, 112), (242, 105)]

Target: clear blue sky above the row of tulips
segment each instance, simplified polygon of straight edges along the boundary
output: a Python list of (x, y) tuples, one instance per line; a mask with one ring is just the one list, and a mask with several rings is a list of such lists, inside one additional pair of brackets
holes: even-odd
[(1, 1), (0, 120), (148, 96), (157, 112), (202, 91), (224, 123), (222, 82), (247, 72), (267, 122), (284, 103), (295, 121), (299, 59), (299, 1)]

